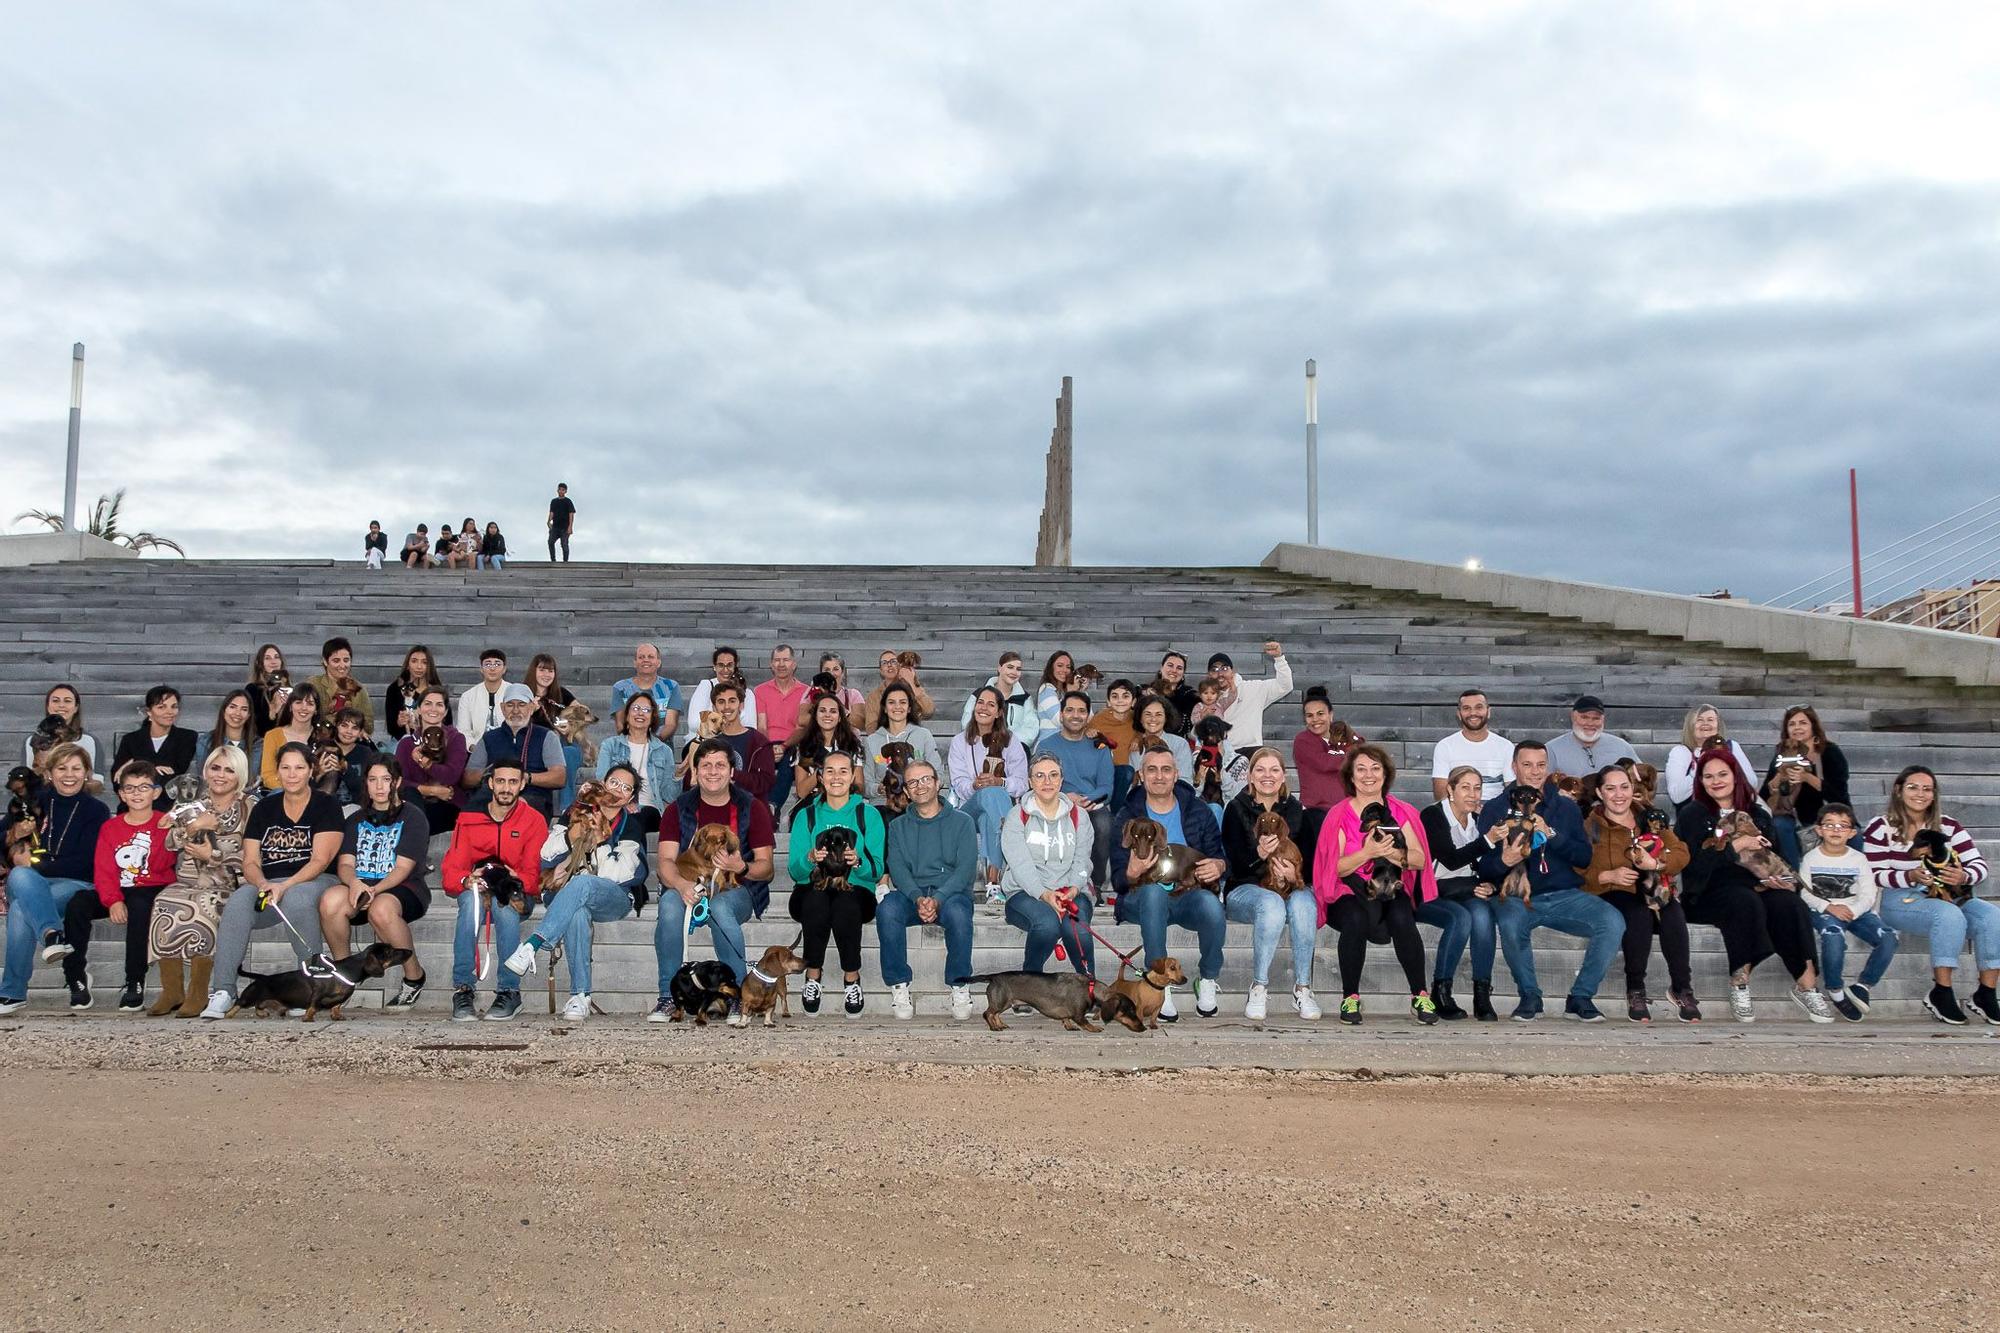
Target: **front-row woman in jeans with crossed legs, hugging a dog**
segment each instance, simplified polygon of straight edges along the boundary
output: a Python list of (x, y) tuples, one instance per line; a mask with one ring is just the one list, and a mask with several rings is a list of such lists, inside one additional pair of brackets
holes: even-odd
[[(568, 815), (550, 825), (542, 843), (542, 873), (550, 877), (542, 923), (502, 967), (514, 977), (534, 971), (534, 955), (550, 943), (562, 945), (570, 967), (570, 999), (562, 1007), (568, 1023), (590, 1017), (590, 927), (624, 921), (646, 905), (646, 833), (626, 807), (638, 791), (638, 771), (616, 765), (602, 779), (602, 791), (584, 785)], [(586, 831), (578, 835), (578, 831)], [(596, 839), (584, 861), (568, 871), (574, 837)]]

